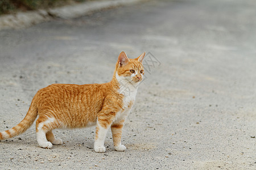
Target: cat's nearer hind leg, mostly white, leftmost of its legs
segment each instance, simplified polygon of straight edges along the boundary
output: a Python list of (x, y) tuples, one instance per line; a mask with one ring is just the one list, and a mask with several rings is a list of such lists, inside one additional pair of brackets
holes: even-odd
[(40, 117), (36, 120), (36, 140), (40, 147), (52, 148), (52, 143), (47, 141), (46, 133), (57, 128), (55, 118)]

